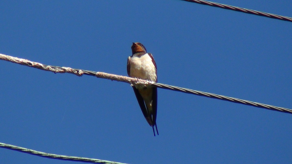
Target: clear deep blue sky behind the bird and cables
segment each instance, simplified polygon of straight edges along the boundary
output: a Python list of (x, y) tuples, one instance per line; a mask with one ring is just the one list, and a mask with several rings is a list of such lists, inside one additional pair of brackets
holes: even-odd
[[(218, 3), (292, 16), (291, 0)], [(292, 22), (180, 0), (0, 1), (0, 53), (127, 75), (132, 42), (158, 82), (292, 108)], [(292, 163), (292, 115), (158, 89), (154, 137), (131, 86), (0, 61), (0, 142), (148, 163)], [(0, 149), (0, 163), (74, 163)]]

